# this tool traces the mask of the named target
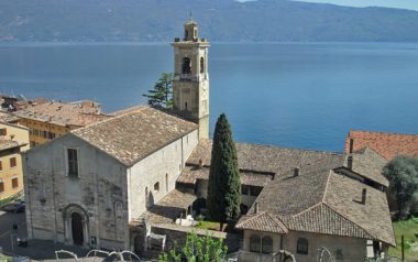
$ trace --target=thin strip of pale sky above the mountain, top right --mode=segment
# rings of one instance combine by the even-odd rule
[[[304,2],[324,2],[350,7],[387,7],[418,11],[418,0],[298,0]]]

